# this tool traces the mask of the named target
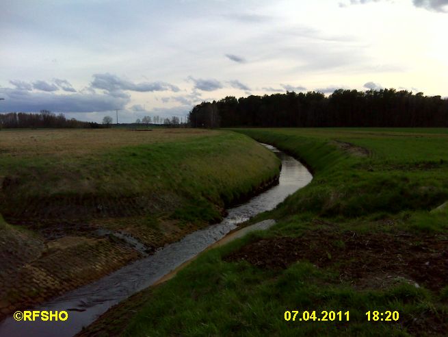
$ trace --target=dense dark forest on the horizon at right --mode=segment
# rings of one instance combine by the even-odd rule
[[[192,127],[448,127],[448,99],[408,90],[226,97],[189,112]]]

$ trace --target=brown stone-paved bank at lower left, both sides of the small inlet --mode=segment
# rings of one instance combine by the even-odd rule
[[[140,216],[93,219],[82,226],[55,225],[49,235],[0,219],[0,321],[16,310],[34,308],[142,257],[113,236],[95,236],[98,228],[128,233],[148,248],[147,253],[153,253],[200,227],[179,226],[169,219],[159,220],[153,227],[147,222],[147,217]]]

